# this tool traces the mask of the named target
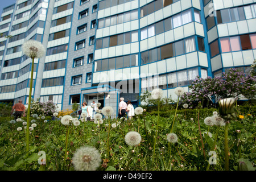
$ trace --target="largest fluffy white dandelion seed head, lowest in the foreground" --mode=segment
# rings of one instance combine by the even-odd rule
[[[80,147],[75,151],[72,164],[76,171],[95,171],[102,162],[100,152],[89,146]]]

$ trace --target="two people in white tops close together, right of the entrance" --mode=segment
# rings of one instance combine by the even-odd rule
[[[119,110],[118,110],[118,117],[122,118],[125,117],[125,114],[127,113],[127,117],[129,117],[129,119],[133,118],[134,116],[134,107],[131,104],[131,101],[124,101],[125,98],[121,97],[120,98],[120,102],[119,102]]]

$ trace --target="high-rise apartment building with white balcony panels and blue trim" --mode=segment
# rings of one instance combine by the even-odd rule
[[[17,0],[3,9],[0,101],[27,102],[31,60],[20,46],[47,48],[35,61],[33,97],[59,110],[101,102],[118,111],[159,87],[174,89],[196,76],[228,68],[249,73],[256,58],[256,0]]]

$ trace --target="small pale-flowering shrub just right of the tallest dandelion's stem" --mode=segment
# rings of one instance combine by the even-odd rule
[[[37,100],[37,101],[32,101],[31,103],[31,114],[51,116],[53,113],[56,112],[56,109],[57,109],[57,105],[53,104],[52,101],[39,102]]]

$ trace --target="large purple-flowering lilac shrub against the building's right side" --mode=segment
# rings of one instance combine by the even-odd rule
[[[189,108],[202,102],[203,106],[214,106],[221,98],[239,97],[241,94],[249,100],[255,97],[256,76],[246,76],[231,68],[221,77],[197,77],[189,86],[191,92],[181,96],[180,105],[188,104]]]

